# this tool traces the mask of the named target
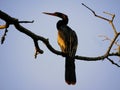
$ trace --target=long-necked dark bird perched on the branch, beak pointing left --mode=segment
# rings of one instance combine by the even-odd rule
[[[76,74],[75,74],[75,53],[77,50],[78,39],[76,33],[67,26],[68,24],[68,17],[67,15],[55,12],[55,13],[47,13],[44,14],[52,15],[60,17],[62,20],[57,22],[57,29],[58,29],[58,44],[67,56],[65,60],[65,81],[70,84],[76,83]]]

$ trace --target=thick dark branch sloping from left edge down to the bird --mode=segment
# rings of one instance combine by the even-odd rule
[[[15,19],[15,18],[7,15],[6,13],[4,13],[4,12],[2,12],[2,11],[0,11],[0,18],[1,18],[2,20],[4,20],[5,22],[9,23],[9,24],[13,24],[18,31],[20,31],[20,32],[28,35],[29,37],[31,37],[31,38],[33,39],[33,41],[34,41],[34,43],[35,43],[35,47],[36,47],[37,49],[39,49],[39,48],[38,48],[39,46],[38,46],[38,44],[37,44],[36,42],[37,42],[38,40],[41,40],[41,41],[47,46],[47,48],[48,48],[51,52],[53,52],[53,53],[55,53],[55,54],[57,54],[57,55],[65,56],[65,54],[63,54],[62,52],[55,50],[55,49],[50,45],[48,39],[46,39],[46,38],[44,38],[44,37],[42,37],[42,36],[38,36],[38,35],[36,35],[35,33],[31,32],[30,30],[28,30],[28,29],[24,28],[23,26],[21,26],[21,25],[19,24],[20,21],[18,21],[18,19]],[[41,50],[38,50],[38,51],[41,51]]]

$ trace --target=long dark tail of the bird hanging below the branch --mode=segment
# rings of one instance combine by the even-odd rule
[[[76,83],[75,60],[71,57],[66,57],[65,60],[65,81],[69,85]]]

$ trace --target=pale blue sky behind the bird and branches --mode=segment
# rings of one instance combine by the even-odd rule
[[[119,0],[1,0],[0,10],[19,20],[34,20],[22,24],[32,32],[49,38],[57,50],[57,17],[42,12],[62,12],[69,17],[69,26],[79,39],[77,54],[83,56],[103,55],[109,41],[102,41],[99,35],[113,37],[108,22],[96,18],[81,3],[91,7],[97,14],[108,11],[116,15],[114,24],[120,32]],[[0,20],[0,24],[4,21]],[[39,42],[44,54],[34,59],[34,43],[14,26],[8,28],[6,40],[0,45],[0,90],[120,90],[120,68],[108,60],[86,62],[76,60],[77,83],[69,86],[64,81],[64,58],[51,53]],[[0,31],[2,36],[4,31]],[[115,47],[114,47],[115,48]],[[113,48],[113,49],[114,49]],[[113,57],[114,61],[119,58]]]

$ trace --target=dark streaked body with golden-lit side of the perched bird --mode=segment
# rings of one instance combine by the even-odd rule
[[[64,53],[74,56],[78,44],[76,33],[68,26],[61,26],[58,30],[58,44]]]

